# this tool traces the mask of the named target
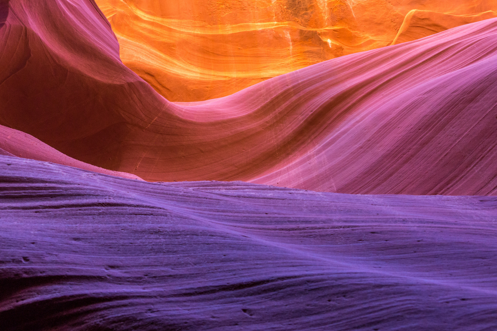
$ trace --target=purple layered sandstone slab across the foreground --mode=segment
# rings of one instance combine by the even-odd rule
[[[497,330],[497,197],[0,174],[2,331]]]

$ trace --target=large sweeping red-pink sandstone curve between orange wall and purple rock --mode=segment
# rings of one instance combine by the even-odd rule
[[[495,18],[171,103],[119,61],[94,2],[3,8],[0,124],[83,162],[148,181],[497,193]]]

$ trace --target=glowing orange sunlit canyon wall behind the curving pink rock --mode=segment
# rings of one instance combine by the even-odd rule
[[[226,96],[325,60],[495,17],[497,11],[494,0],[96,3],[112,24],[123,63],[170,101]]]

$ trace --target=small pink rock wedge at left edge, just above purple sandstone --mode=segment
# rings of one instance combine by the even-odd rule
[[[101,174],[118,176],[129,179],[139,179],[140,177],[126,172],[112,171],[87,164],[50,147],[46,143],[36,139],[27,133],[10,129],[0,125],[0,155],[17,156],[26,159],[54,162],[70,167],[76,167],[88,171],[99,172]]]

